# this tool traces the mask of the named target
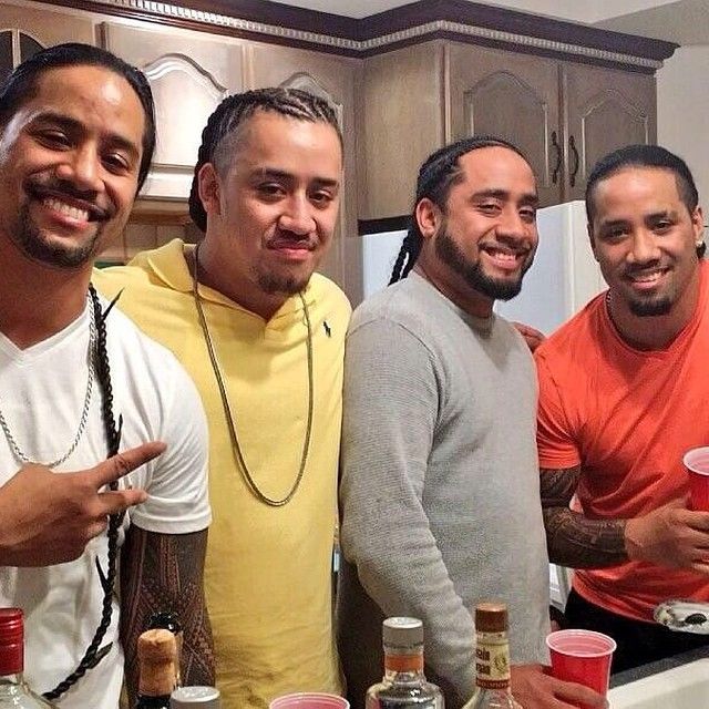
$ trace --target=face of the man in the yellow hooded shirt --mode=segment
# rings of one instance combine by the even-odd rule
[[[257,111],[220,150],[230,154],[199,174],[208,265],[223,292],[267,312],[307,286],[330,246],[340,141],[328,123]]]

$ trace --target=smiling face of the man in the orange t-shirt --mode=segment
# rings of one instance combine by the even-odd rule
[[[690,213],[670,169],[628,167],[593,193],[589,235],[614,301],[637,317],[669,314],[698,278],[702,215]]]

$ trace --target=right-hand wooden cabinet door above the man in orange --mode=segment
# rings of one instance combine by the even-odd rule
[[[564,199],[584,197],[593,166],[609,152],[657,138],[655,78],[613,69],[565,64]]]

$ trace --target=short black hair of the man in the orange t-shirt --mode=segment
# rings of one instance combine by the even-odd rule
[[[692,214],[699,204],[699,194],[695,185],[687,163],[681,157],[670,153],[660,145],[626,145],[613,153],[602,157],[590,171],[586,183],[586,216],[588,223],[593,224],[594,193],[596,185],[610,175],[615,175],[626,167],[656,167],[658,169],[669,169],[675,173],[677,181],[677,192],[685,206]]]

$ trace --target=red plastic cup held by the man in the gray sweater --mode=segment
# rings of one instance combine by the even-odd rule
[[[556,630],[546,637],[552,675],[606,696],[616,641],[594,630]],[[585,709],[584,705],[579,705]]]

